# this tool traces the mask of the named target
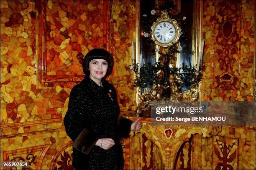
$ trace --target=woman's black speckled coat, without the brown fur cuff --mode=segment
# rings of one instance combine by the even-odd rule
[[[75,141],[84,129],[94,134],[88,139],[91,146],[85,146],[89,150],[87,154],[73,148],[72,165],[75,169],[120,170],[122,167],[123,154],[119,137],[128,137],[131,120],[122,117],[120,121],[113,85],[102,79],[102,86],[87,77],[70,92],[69,106],[64,117],[67,135]],[[95,146],[99,138],[112,138],[115,145],[104,150]]]

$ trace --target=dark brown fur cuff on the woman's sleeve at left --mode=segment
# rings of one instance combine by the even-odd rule
[[[95,133],[90,129],[85,128],[74,141],[74,148],[76,148],[77,150],[81,151],[84,154],[89,154],[90,150],[99,138],[99,134]]]

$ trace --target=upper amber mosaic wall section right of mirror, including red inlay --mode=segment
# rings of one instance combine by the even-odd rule
[[[253,100],[255,1],[203,1],[202,100]]]

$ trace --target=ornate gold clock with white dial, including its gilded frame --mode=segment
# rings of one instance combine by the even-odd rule
[[[171,19],[166,11],[162,12],[161,18],[157,18],[151,26],[151,31],[152,40],[162,47],[173,45],[182,34],[177,21]]]

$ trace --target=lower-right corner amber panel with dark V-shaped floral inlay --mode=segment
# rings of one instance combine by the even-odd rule
[[[202,139],[202,169],[255,169],[255,127],[227,127]]]

